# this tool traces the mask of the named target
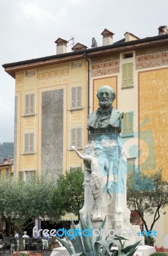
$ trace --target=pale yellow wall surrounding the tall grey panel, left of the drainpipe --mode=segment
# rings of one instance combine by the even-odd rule
[[[26,76],[24,72],[16,74],[15,95],[18,96],[17,109],[17,173],[24,170],[41,170],[41,99],[42,92],[49,90],[64,90],[64,145],[63,145],[63,172],[70,166],[80,166],[82,161],[70,150],[70,128],[83,127],[83,146],[88,140],[86,124],[88,118],[88,64],[81,61],[81,67],[72,67],[72,63],[54,65],[34,69],[35,75]],[[82,110],[71,110],[71,89],[82,86]],[[25,95],[34,93],[35,115],[24,116]],[[35,132],[35,154],[24,155],[24,132]],[[17,175],[18,177],[18,175]]]

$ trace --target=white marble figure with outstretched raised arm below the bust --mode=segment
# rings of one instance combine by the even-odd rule
[[[107,207],[111,202],[111,194],[108,193],[108,189],[111,189],[112,173],[109,175],[109,162],[102,157],[102,147],[95,145],[95,149],[91,156],[82,155],[80,152],[72,146],[77,156],[83,160],[88,160],[91,164],[91,179],[89,182],[89,188],[93,195],[93,221],[102,221],[107,214]],[[111,177],[111,180],[109,180]],[[84,209],[83,209],[84,210]],[[82,209],[80,210],[80,214]]]

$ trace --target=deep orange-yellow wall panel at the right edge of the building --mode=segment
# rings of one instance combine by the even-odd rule
[[[139,73],[139,140],[141,157],[140,168],[151,170],[149,163],[156,161],[156,168],[167,173],[167,134],[168,134],[168,68]],[[150,140],[149,140],[150,139]],[[153,146],[152,147],[152,143]],[[153,155],[150,161],[148,157]]]

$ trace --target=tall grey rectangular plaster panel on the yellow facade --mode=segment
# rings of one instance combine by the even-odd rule
[[[63,89],[42,92],[42,173],[63,173]]]

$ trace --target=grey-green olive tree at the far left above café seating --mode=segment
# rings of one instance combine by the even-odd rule
[[[12,178],[1,179],[0,216],[19,234],[19,248],[24,250],[22,234],[34,223],[34,218],[50,216],[49,198],[54,182],[47,176],[36,177],[24,182]]]

